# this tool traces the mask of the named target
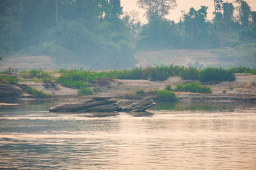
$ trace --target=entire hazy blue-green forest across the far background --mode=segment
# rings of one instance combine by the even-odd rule
[[[165,17],[175,0],[138,0],[138,12],[124,13],[120,0],[1,0],[0,56],[49,55],[59,64],[79,62],[92,69],[124,69],[141,50],[256,48],[256,11],[243,0],[212,0],[182,11],[179,22]],[[236,4],[236,8],[235,8]],[[256,59],[256,52],[252,53]]]

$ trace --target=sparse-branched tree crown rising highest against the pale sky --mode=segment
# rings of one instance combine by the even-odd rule
[[[177,4],[176,0],[138,0],[138,6],[147,10],[148,18],[163,18],[168,15],[169,11],[174,9]]]

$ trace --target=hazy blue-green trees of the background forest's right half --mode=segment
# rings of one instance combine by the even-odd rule
[[[151,1],[154,7],[154,2]],[[147,9],[148,24],[143,25],[138,36],[138,48],[159,49],[212,49],[234,47],[243,43],[256,42],[256,12],[250,6],[237,0],[237,11],[233,3],[215,1],[213,20],[207,20],[207,6],[190,8],[178,23],[167,20]],[[212,2],[213,4],[213,2]],[[237,15],[235,15],[237,13]]]

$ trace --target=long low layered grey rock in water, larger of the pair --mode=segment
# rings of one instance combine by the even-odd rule
[[[50,111],[116,111],[117,99],[111,97],[92,97],[81,103],[62,104],[49,108]]]

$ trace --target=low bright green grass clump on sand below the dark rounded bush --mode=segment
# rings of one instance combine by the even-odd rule
[[[209,94],[211,93],[211,88],[201,83],[191,82],[186,84],[178,84],[176,85],[175,91],[177,92],[193,92],[193,93],[204,93]]]

